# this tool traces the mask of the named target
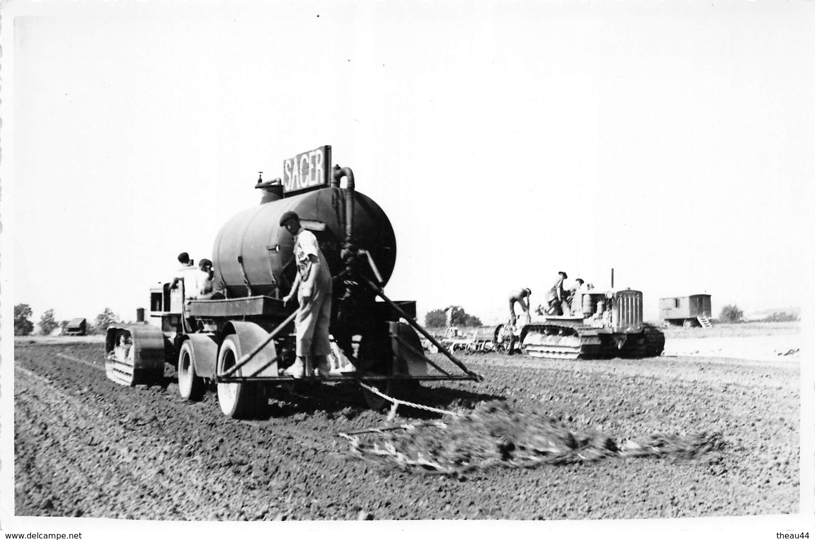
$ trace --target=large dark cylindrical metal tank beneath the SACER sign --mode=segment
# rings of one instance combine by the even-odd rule
[[[215,237],[214,288],[230,298],[249,296],[249,290],[252,295],[267,296],[289,291],[295,272],[294,239],[280,226],[280,216],[288,210],[296,212],[302,226],[315,234],[331,274],[338,274],[346,231],[345,191],[325,187],[260,204],[231,217]],[[354,200],[354,244],[371,254],[387,283],[396,262],[393,227],[370,197],[354,191]]]

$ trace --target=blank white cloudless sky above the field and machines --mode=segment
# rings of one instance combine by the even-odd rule
[[[35,322],[134,318],[258,171],[324,144],[390,217],[386,292],[420,313],[491,323],[558,270],[614,268],[646,318],[807,296],[815,2],[6,8],[3,264]]]

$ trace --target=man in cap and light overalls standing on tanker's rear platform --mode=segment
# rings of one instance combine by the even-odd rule
[[[294,237],[294,260],[297,275],[289,294],[284,297],[288,304],[294,295],[300,307],[294,319],[297,331],[297,360],[284,371],[299,379],[311,375],[315,362],[318,375],[328,375],[330,367],[328,354],[331,354],[331,341],[328,338],[328,325],[331,321],[331,274],[317,238],[300,224],[300,217],[294,212],[280,216],[280,226]]]

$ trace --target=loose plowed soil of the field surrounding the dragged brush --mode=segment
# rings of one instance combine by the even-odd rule
[[[482,383],[410,399],[467,412],[499,400],[613,441],[720,432],[716,459],[607,457],[451,477],[360,459],[338,432],[385,426],[354,384],[278,390],[227,419],[215,393],[105,378],[104,346],[15,346],[15,513],[142,520],[608,519],[797,513],[797,359],[541,361],[461,355]],[[399,406],[394,424],[440,415]],[[438,440],[445,434],[439,428]],[[372,444],[381,433],[359,435]],[[422,440],[433,437],[425,432]]]

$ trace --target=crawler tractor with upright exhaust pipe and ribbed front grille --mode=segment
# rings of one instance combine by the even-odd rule
[[[496,349],[520,350],[535,358],[582,360],[590,358],[649,358],[665,348],[665,335],[642,320],[642,292],[611,288],[577,291],[571,313],[539,314],[517,327],[498,325]]]

